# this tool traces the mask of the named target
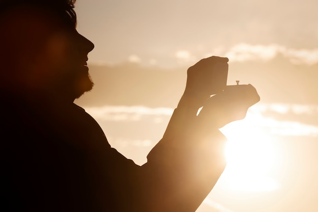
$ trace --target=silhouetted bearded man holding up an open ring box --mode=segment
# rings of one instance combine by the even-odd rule
[[[226,165],[217,129],[250,106],[237,105],[243,115],[234,117],[233,100],[216,98],[196,115],[209,70],[228,59],[188,69],[165,135],[138,166],[73,103],[93,86],[94,48],[76,31],[74,2],[0,0],[1,211],[195,211]]]

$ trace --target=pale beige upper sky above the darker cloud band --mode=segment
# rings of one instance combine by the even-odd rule
[[[78,0],[76,12],[79,32],[96,44],[91,63],[167,67],[213,54],[244,59],[235,55],[243,49],[317,62],[317,7],[315,0]]]

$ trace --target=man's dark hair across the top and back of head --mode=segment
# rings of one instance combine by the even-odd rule
[[[34,63],[35,55],[46,39],[33,36],[42,31],[37,24],[28,21],[40,18],[41,22],[41,15],[47,15],[43,17],[48,20],[56,18],[58,23],[63,24],[61,27],[75,29],[74,4],[75,0],[0,0],[0,90],[20,89],[17,84],[27,81],[25,76],[28,75],[29,64]],[[24,15],[27,15],[25,19]]]

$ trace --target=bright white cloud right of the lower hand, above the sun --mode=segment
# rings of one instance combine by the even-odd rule
[[[317,111],[317,105],[257,104],[248,110],[245,119],[231,123],[222,130],[229,135],[231,132],[241,135],[246,133],[244,129],[255,129],[273,135],[317,137],[318,125],[314,120]],[[304,122],[305,115],[312,119],[312,124]]]

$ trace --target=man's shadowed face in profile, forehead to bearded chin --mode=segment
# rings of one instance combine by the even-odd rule
[[[94,45],[80,35],[76,29],[62,30],[52,36],[47,50],[47,57],[55,75],[53,86],[60,92],[69,92],[72,99],[79,98],[93,87],[87,67],[88,52]],[[53,59],[52,59],[53,58]],[[48,67],[49,68],[49,67]]]

